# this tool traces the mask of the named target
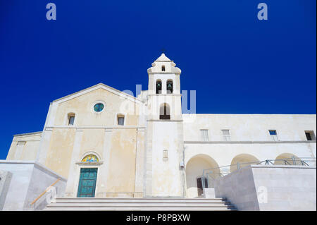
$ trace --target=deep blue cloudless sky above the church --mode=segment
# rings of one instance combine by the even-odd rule
[[[54,99],[147,90],[161,49],[197,113],[316,114],[316,0],[0,0],[0,159],[13,134],[43,129]]]

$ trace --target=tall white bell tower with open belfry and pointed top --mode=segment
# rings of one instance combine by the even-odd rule
[[[180,68],[161,54],[151,68],[147,95],[144,195],[185,196]]]

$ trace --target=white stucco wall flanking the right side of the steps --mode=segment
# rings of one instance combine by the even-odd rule
[[[251,165],[215,181],[239,210],[316,210],[316,166]]]

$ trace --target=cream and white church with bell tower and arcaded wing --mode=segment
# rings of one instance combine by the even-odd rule
[[[137,97],[99,83],[54,100],[42,131],[13,136],[0,171],[32,162],[57,174],[68,198],[201,198],[204,188],[218,190],[217,179],[264,161],[312,168],[316,183],[315,114],[184,114],[174,61],[161,54],[147,73]],[[26,192],[35,200],[44,190]],[[316,184],[309,191],[316,210]]]

